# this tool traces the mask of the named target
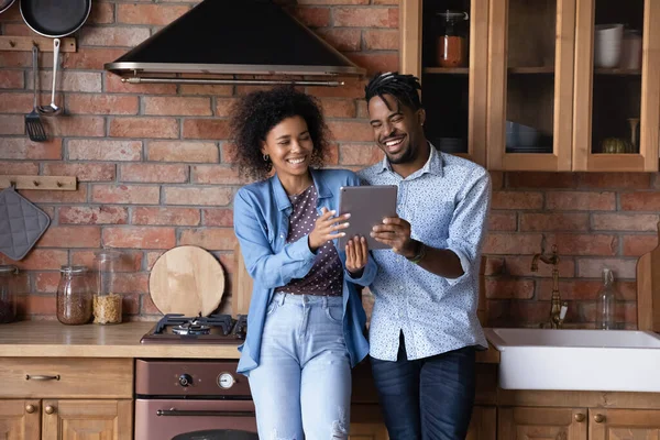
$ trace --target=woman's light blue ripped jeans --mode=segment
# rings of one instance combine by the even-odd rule
[[[348,439],[351,365],[342,297],[275,294],[249,375],[262,440]]]

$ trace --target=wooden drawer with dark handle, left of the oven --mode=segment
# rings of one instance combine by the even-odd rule
[[[132,398],[133,360],[0,358],[0,398]]]

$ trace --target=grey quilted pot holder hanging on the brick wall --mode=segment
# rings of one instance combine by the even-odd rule
[[[13,187],[0,191],[0,252],[21,260],[51,224],[48,216]]]

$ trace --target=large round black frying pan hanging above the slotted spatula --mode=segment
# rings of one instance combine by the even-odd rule
[[[31,30],[58,38],[73,34],[85,24],[91,0],[21,0],[20,9]]]

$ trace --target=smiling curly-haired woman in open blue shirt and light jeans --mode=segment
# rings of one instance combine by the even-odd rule
[[[290,86],[245,96],[231,128],[240,169],[258,180],[235,196],[234,230],[254,279],[239,372],[260,438],[345,439],[351,367],[369,351],[355,285],[369,285],[376,266],[364,238],[336,248],[350,217],[336,213],[339,188],[360,180],[319,169],[322,112]]]

